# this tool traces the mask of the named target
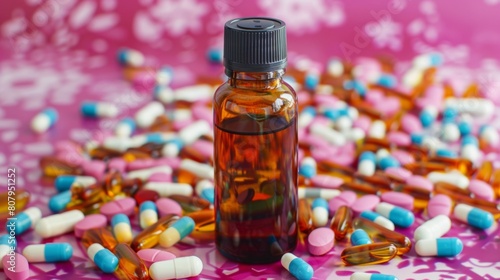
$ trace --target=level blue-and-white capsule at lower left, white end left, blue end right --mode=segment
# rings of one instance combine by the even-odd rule
[[[32,244],[24,248],[23,256],[29,263],[65,262],[73,256],[73,247],[68,243]]]

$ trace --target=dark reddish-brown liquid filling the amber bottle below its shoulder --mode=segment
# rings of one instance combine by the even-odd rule
[[[297,239],[297,127],[282,116],[240,115],[215,128],[217,247],[269,263]]]

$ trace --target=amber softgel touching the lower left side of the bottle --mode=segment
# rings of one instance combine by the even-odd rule
[[[215,240],[215,213],[205,209],[187,214],[195,222],[194,231],[189,235],[197,242],[212,242]]]

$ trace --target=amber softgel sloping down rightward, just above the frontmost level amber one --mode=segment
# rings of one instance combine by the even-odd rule
[[[398,249],[398,255],[403,255],[410,251],[411,241],[408,237],[386,229],[370,220],[364,218],[356,218],[352,225],[355,229],[363,229],[368,233],[374,242],[391,242]]]

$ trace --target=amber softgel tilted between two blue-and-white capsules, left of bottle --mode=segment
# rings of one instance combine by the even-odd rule
[[[145,228],[142,232],[136,235],[136,237],[134,237],[131,244],[132,249],[137,252],[142,249],[153,248],[156,244],[158,244],[160,234],[162,234],[165,229],[178,219],[179,216],[173,214],[165,215],[160,218],[158,222]]]

